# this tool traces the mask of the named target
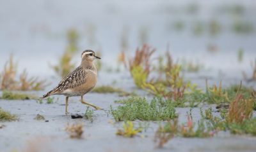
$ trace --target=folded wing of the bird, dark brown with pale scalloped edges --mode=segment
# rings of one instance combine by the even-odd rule
[[[41,97],[40,99],[48,97],[49,95],[52,95],[54,93],[62,92],[68,88],[74,88],[83,85],[84,83],[86,83],[87,74],[88,72],[86,72],[82,67],[77,67],[76,69],[74,69],[74,71],[68,73],[67,76],[65,76],[65,78],[63,78],[54,89],[43,95],[43,97]]]

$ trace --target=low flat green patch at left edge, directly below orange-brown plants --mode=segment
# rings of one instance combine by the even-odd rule
[[[4,100],[29,100],[35,99],[32,95],[22,94],[17,92],[7,92],[6,90],[3,91],[3,95],[0,99]]]

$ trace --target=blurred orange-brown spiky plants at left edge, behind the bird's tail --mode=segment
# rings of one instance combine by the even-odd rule
[[[0,76],[1,90],[44,90],[50,83],[45,84],[45,80],[38,81],[38,77],[28,79],[26,69],[19,76],[19,81],[15,81],[17,73],[17,63],[13,63],[12,55],[9,62],[4,65],[4,71]]]

